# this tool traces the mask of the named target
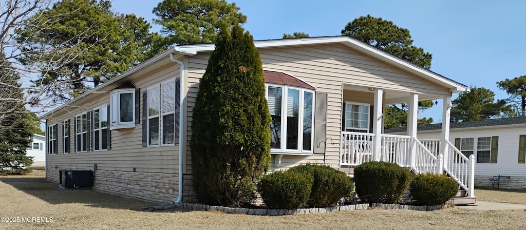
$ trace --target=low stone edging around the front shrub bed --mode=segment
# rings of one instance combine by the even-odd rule
[[[351,204],[341,205],[336,207],[314,207],[314,208],[298,208],[295,210],[287,209],[266,209],[266,208],[242,208],[242,207],[224,207],[214,206],[205,204],[175,204],[170,205],[170,209],[183,209],[183,210],[194,210],[194,211],[216,211],[230,214],[247,214],[247,215],[266,215],[266,216],[279,216],[279,215],[304,215],[309,213],[330,213],[339,211],[352,211],[352,210],[366,210],[369,207],[379,207],[385,210],[418,210],[418,211],[432,211],[442,208],[442,205],[433,206],[415,206],[415,205],[403,205],[403,204]]]

